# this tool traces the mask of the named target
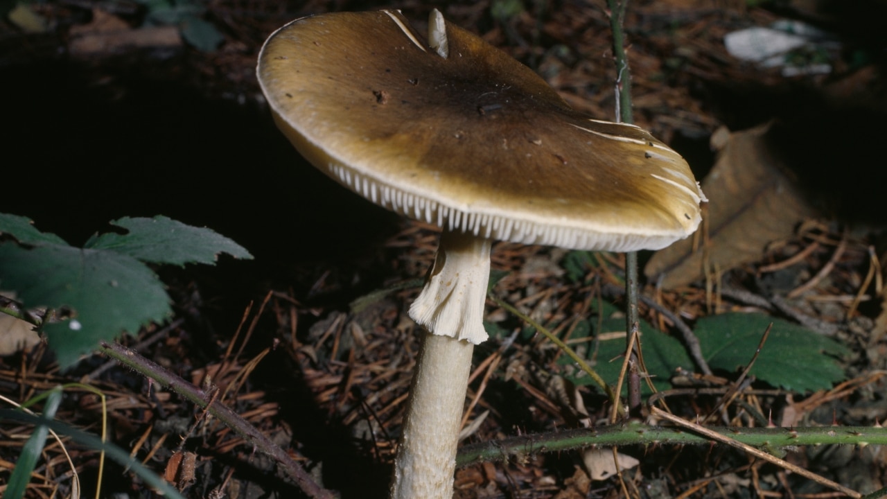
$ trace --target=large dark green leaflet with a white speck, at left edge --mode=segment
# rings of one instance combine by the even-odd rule
[[[75,317],[45,325],[59,364],[72,365],[103,339],[137,332],[172,313],[161,281],[136,258],[114,251],[0,244],[0,285],[27,307],[70,307]]]

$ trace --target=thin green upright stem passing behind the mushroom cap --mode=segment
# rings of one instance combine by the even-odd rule
[[[616,63],[616,122],[634,123],[632,116],[632,72],[628,67],[628,58],[625,56],[625,32],[623,24],[628,0],[608,0],[610,11],[610,31],[613,33],[613,60]],[[640,329],[638,315],[638,254],[630,251],[625,254],[625,297],[627,305],[625,310],[626,337],[632,337],[632,332]],[[639,343],[631,348],[628,376],[628,414],[640,416],[640,373],[638,361]]]

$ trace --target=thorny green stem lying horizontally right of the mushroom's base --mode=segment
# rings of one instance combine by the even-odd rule
[[[845,444],[864,446],[887,444],[887,428],[870,426],[820,426],[810,428],[707,427],[727,438],[774,451],[803,445]],[[458,466],[483,461],[501,461],[511,456],[535,455],[591,446],[622,445],[710,445],[711,440],[676,427],[653,426],[632,420],[595,428],[522,435],[504,440],[479,442],[459,448]]]

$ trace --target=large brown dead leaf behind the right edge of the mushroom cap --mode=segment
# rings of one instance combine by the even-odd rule
[[[754,262],[768,244],[788,238],[799,222],[815,215],[767,146],[769,128],[768,123],[726,137],[703,180],[710,200],[703,227],[693,238],[656,252],[644,269],[649,278],[663,275],[663,288],[671,289],[703,277],[706,268],[723,272]]]

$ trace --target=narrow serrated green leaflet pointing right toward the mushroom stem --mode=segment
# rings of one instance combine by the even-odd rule
[[[86,242],[85,248],[110,249],[155,264],[212,265],[216,263],[219,253],[227,253],[235,258],[252,258],[246,249],[224,235],[163,216],[121,218],[112,221],[111,225],[129,232],[93,236]]]

